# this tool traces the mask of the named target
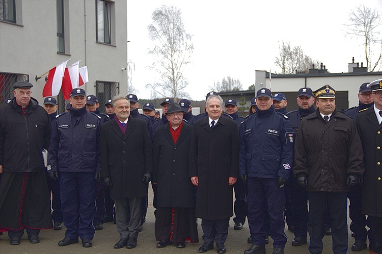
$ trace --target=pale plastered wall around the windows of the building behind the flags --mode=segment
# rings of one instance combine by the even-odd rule
[[[127,3],[116,0],[115,45],[96,42],[96,1],[66,0],[69,7],[70,51],[57,53],[57,17],[54,0],[16,0],[22,4],[22,24],[0,21],[0,72],[28,74],[34,85],[32,96],[42,102],[45,79],[35,80],[49,69],[71,58],[88,66],[87,94],[96,93],[96,81],[120,83],[127,91]],[[16,16],[17,18],[17,16]],[[68,36],[68,35],[66,35]]]

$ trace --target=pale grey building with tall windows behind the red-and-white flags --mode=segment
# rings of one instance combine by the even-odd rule
[[[127,3],[124,0],[0,0],[0,105],[13,97],[13,84],[27,80],[42,104],[45,77],[71,59],[87,66],[81,86],[104,102],[127,92]],[[59,111],[65,102],[57,96]]]

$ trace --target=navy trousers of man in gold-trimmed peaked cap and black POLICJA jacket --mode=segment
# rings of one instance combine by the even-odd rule
[[[309,219],[308,232],[310,236],[310,252],[321,253],[323,244],[324,215],[326,206],[332,219],[333,253],[345,254],[347,252],[347,193],[308,191]]]

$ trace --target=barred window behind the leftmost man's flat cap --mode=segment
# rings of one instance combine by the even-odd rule
[[[13,98],[13,84],[18,81],[29,81],[29,75],[0,72],[0,106],[7,99]]]

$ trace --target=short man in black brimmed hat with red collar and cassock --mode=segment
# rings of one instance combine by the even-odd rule
[[[183,109],[170,103],[169,124],[155,131],[153,183],[157,187],[156,247],[175,243],[184,248],[189,238],[199,242],[195,217],[194,185],[188,178],[188,150],[193,127],[182,121]]]

